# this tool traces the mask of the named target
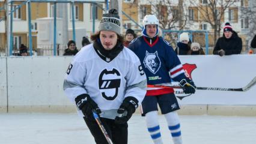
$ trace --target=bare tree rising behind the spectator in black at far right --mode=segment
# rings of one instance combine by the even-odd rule
[[[204,2],[204,4],[202,3]],[[214,41],[221,34],[222,23],[224,22],[225,11],[234,4],[234,0],[190,0],[190,5],[194,5],[200,13],[200,21],[209,23],[214,30]]]

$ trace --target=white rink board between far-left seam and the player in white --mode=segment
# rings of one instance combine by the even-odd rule
[[[72,57],[13,57],[8,63],[9,111],[73,107],[62,90]],[[34,111],[34,110],[32,110]]]

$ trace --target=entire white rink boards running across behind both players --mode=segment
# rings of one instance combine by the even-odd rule
[[[180,59],[189,65],[187,72],[197,86],[241,88],[256,76],[256,55]],[[0,112],[75,112],[62,91],[70,61],[69,56],[0,58]],[[256,116],[256,86],[247,92],[197,91],[189,96],[176,92],[184,97],[180,114]]]

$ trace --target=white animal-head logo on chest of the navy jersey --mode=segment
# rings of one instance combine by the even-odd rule
[[[149,53],[146,51],[146,56],[144,58],[143,64],[145,65],[151,73],[156,74],[161,66],[160,58],[158,57],[157,52]]]

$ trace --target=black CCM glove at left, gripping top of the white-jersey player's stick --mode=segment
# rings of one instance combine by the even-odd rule
[[[88,94],[81,94],[78,95],[78,97],[75,98],[76,106],[80,110],[82,110],[82,113],[84,114],[85,118],[90,119],[91,121],[94,121],[93,118],[93,110],[97,114],[102,113],[98,105],[91,99],[90,95]]]

